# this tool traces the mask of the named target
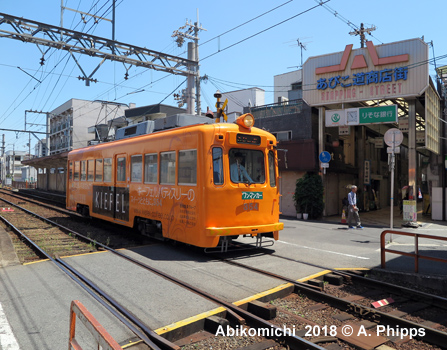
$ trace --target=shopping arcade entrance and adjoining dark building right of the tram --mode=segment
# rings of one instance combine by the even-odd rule
[[[384,208],[391,198],[401,204],[405,189],[412,205],[424,202],[427,214],[445,220],[443,81],[429,75],[428,45],[421,39],[368,41],[365,48],[341,50],[275,77],[277,102],[250,109],[256,126],[280,141],[281,212],[295,215],[296,180],[319,172],[326,216],[340,215],[342,199],[357,185],[361,210]],[[390,129],[401,133],[399,147],[386,144]],[[318,157],[324,151],[331,156],[326,165]]]

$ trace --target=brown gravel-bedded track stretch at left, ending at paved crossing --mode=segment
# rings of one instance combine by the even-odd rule
[[[97,243],[113,248],[154,243],[153,240],[130,229],[123,230],[122,227],[110,223],[86,219],[77,213],[16,193],[6,191],[0,193],[2,195],[0,214],[18,229],[29,232],[32,239],[43,241],[49,246],[48,251],[53,255],[68,256],[95,252],[99,247]],[[15,236],[12,236],[12,239],[22,263],[42,258],[20,239]]]

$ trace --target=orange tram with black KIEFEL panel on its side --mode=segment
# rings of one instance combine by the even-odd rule
[[[284,226],[276,139],[253,124],[244,114],[73,150],[67,208],[197,247],[227,251],[240,235],[272,245],[263,238]]]

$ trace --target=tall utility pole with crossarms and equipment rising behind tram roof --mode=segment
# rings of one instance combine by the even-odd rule
[[[193,42],[188,43],[188,59],[191,61],[196,62],[195,67],[191,67],[193,70],[195,69],[195,74],[192,76],[192,79],[188,79],[188,87],[186,92],[186,98],[187,101],[192,102],[194,99],[194,81],[195,78],[195,100],[196,100],[196,112],[198,115],[201,114],[202,106],[200,104],[200,71],[199,71],[199,31],[200,30],[206,30],[202,28],[199,24],[199,10],[197,10],[197,22],[186,21],[186,24],[179,29],[175,30],[174,33],[172,33],[172,37],[176,38],[175,41],[177,42],[178,47],[182,47],[183,43],[186,39],[190,39]],[[191,45],[190,45],[191,44]],[[195,114],[194,109],[192,107],[192,103],[187,103],[188,105],[188,113],[189,114]],[[190,107],[191,105],[191,107]]]

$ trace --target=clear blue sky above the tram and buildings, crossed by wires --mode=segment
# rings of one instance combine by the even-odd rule
[[[102,15],[111,1],[64,0],[64,4]],[[91,9],[93,4],[97,5]],[[177,47],[171,35],[186,20],[195,22],[199,11],[199,23],[206,29],[199,34],[203,43],[199,48],[200,73],[210,77],[201,85],[203,111],[214,105],[217,89],[228,92],[259,87],[266,91],[265,103],[273,103],[273,76],[301,65],[297,40],[306,47],[304,61],[311,56],[343,51],[347,44],[360,47],[359,37],[349,34],[353,28],[346,22],[357,27],[361,22],[365,27],[376,26],[373,35],[367,35],[375,45],[424,36],[426,42],[433,42],[430,58],[447,54],[443,30],[445,0],[427,0],[423,4],[415,0],[331,0],[325,7],[318,6],[315,0],[116,0],[116,4],[116,40],[182,57],[186,57],[186,45]],[[60,0],[3,0],[0,12],[59,26],[60,6]],[[312,7],[316,8],[310,10]],[[111,14],[107,17],[111,18]],[[71,11],[64,12],[63,21],[64,27],[111,38],[109,22],[84,25],[80,15]],[[250,22],[226,33],[247,21]],[[2,25],[0,29],[10,27]],[[144,68],[130,68],[129,79],[124,80],[123,65],[106,62],[93,76],[98,82],[87,87],[78,80],[82,73],[66,51],[51,49],[41,66],[42,54],[36,45],[0,38],[0,53],[0,128],[6,129],[22,130],[25,110],[51,111],[70,98],[136,103],[137,107],[161,101],[176,105],[170,94],[178,92],[176,87],[185,80],[183,76]],[[88,75],[99,63],[87,56],[78,55],[77,59]],[[436,64],[447,65],[447,59],[437,60]],[[434,65],[430,74],[434,74]],[[181,86],[185,87],[186,84]],[[27,122],[43,124],[44,116],[28,114]],[[39,126],[27,129],[43,131]],[[6,150],[11,150],[13,144],[16,150],[28,150],[28,134],[0,131],[3,133]],[[31,145],[35,142],[32,137]]]

